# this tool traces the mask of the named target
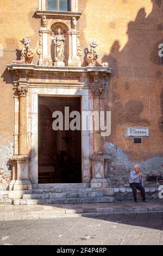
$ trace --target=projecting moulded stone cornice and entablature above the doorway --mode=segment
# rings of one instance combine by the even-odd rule
[[[103,66],[86,67],[56,67],[39,66],[34,64],[10,64],[8,71],[15,75],[15,81],[26,84],[27,87],[59,87],[89,89],[98,77],[101,84],[106,85],[105,76],[111,74],[112,69]],[[16,83],[17,83],[16,82]],[[97,87],[95,86],[92,88]],[[99,87],[101,89],[101,87]],[[101,95],[102,96],[102,95]]]

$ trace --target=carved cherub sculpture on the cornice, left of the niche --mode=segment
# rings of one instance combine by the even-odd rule
[[[20,60],[14,60],[12,63],[30,64],[30,63],[32,63],[33,56],[34,56],[34,53],[30,49],[30,46],[29,46],[30,39],[23,38],[23,40],[21,42],[24,45],[24,48],[21,51],[21,58],[20,58]]]

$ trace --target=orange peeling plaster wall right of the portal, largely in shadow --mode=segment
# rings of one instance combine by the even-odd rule
[[[97,41],[100,58],[113,68],[105,105],[111,111],[106,144],[114,185],[128,183],[138,163],[145,174],[163,172],[162,8],[162,0],[79,1],[82,48]],[[127,127],[148,127],[150,135],[134,144]]]

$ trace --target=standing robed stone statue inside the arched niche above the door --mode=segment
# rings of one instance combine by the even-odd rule
[[[64,50],[65,50],[65,38],[61,34],[61,29],[57,29],[57,35],[54,36],[54,47],[55,47],[55,57],[54,62],[64,61]]]

